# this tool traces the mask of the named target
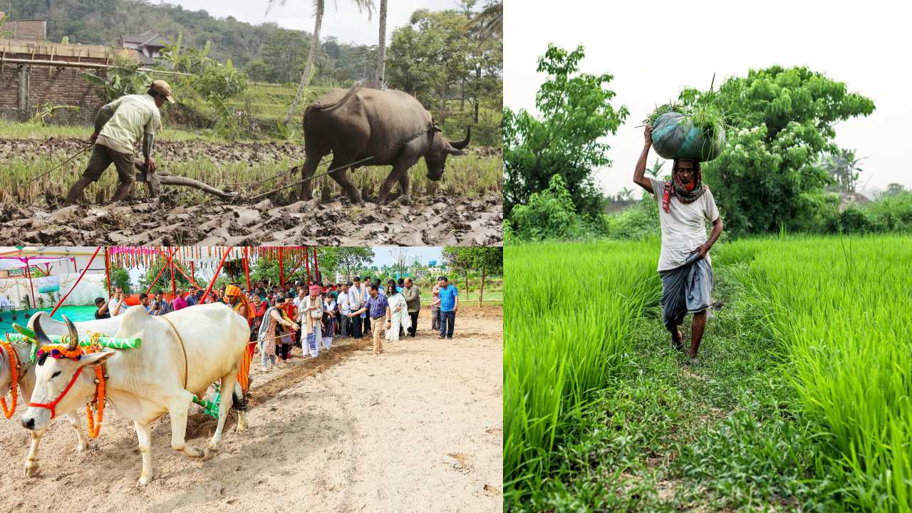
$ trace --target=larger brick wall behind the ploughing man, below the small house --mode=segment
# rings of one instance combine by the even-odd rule
[[[102,105],[96,94],[100,88],[79,77],[81,71],[85,69],[6,64],[0,71],[0,117],[27,120],[50,102],[54,105],[75,105],[79,110],[57,110],[48,121],[60,124],[91,123]],[[98,69],[88,71],[101,74]],[[20,87],[24,80],[27,84],[26,91]],[[23,92],[26,92],[25,98],[21,96]],[[25,109],[22,108],[23,99]]]

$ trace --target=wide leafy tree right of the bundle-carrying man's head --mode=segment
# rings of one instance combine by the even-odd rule
[[[806,225],[831,183],[819,156],[838,152],[835,123],[875,109],[845,83],[804,67],[751,69],[718,91],[684,89],[680,99],[710,102],[731,124],[726,150],[703,165],[703,176],[734,233]]]

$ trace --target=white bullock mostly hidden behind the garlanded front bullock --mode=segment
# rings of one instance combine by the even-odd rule
[[[59,320],[51,319],[50,315],[45,311],[36,312],[28,319],[29,329],[35,329],[36,319],[41,319],[41,326],[47,334],[67,334],[67,325]],[[98,332],[111,336],[117,332],[118,326],[119,320],[115,319],[87,320],[76,323],[76,329],[80,335],[89,335],[90,333]],[[35,389],[35,364],[28,362],[31,346],[24,344],[10,345],[14,351],[16,351],[18,385],[19,390],[22,392],[22,399],[24,400],[23,405],[25,405],[25,403],[28,403],[29,398],[32,396],[32,391]],[[0,396],[5,396],[6,393],[9,392],[11,378],[12,373],[10,372],[9,355],[6,354],[5,350],[0,349]],[[74,409],[67,412],[61,411],[60,413],[66,415],[69,424],[76,430],[79,440],[78,445],[76,446],[77,452],[86,450],[86,447],[88,447],[88,437],[82,431],[82,424],[79,421],[76,410]],[[38,443],[40,441],[40,434],[32,432],[32,445],[28,449],[28,455],[26,455],[26,476],[36,476],[38,473],[37,455]]]

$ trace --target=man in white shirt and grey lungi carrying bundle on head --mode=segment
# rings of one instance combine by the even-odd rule
[[[639,155],[633,181],[655,196],[662,229],[658,274],[662,279],[662,317],[678,350],[684,340],[678,329],[684,315],[693,314],[690,326],[691,359],[696,359],[710,308],[712,267],[710,248],[722,233],[722,219],[709,187],[702,183],[700,162],[674,159],[671,181],[646,178],[646,160],[652,146],[652,127],[647,126],[646,143]],[[712,233],[706,236],[706,222]]]

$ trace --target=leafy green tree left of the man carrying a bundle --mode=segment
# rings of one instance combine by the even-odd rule
[[[554,174],[561,176],[576,212],[601,215],[602,194],[592,171],[611,163],[610,146],[603,140],[617,132],[629,112],[611,105],[615,92],[607,84],[614,77],[579,72],[584,56],[583,47],[567,52],[549,45],[538,59],[537,70],[548,75],[535,97],[541,116],[503,110],[503,209],[508,217],[516,205],[548,188]]]

